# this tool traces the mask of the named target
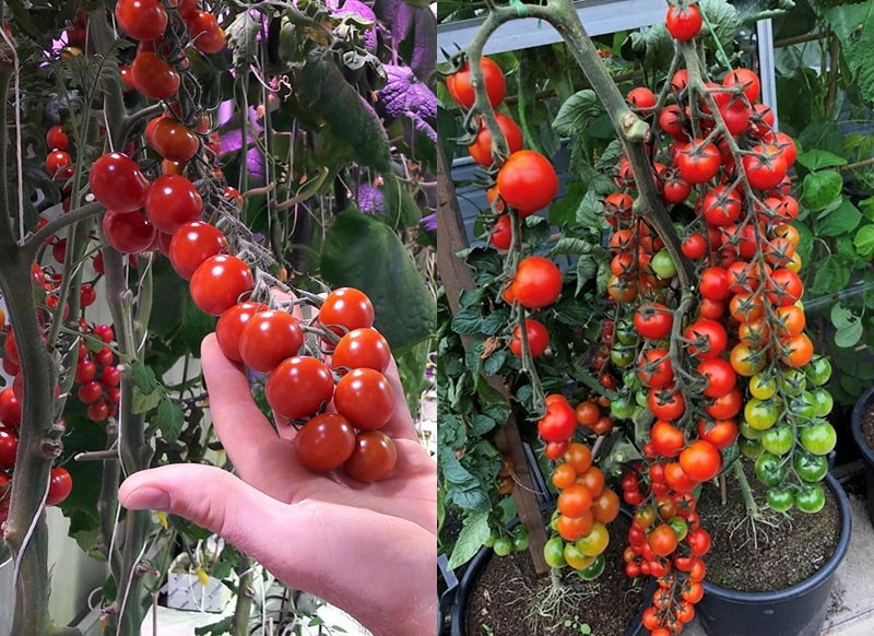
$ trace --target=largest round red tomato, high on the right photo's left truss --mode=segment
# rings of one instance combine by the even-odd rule
[[[558,192],[558,175],[542,154],[520,150],[500,166],[497,186],[504,202],[525,217],[552,202]]]

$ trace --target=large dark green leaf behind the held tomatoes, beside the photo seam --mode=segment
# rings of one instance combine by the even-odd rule
[[[356,210],[339,214],[324,238],[321,272],[330,285],[369,296],[375,327],[399,353],[434,333],[434,296],[401,239],[376,219]]]

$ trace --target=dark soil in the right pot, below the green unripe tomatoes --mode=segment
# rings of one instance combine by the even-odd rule
[[[766,488],[752,470],[747,480],[757,502]],[[743,496],[733,473],[728,475],[728,503],[719,488],[707,484],[698,511],[710,531],[712,546],[705,557],[707,580],[741,591],[773,591],[811,577],[834,554],[840,537],[840,509],[831,490],[823,485],[826,505],[816,515],[793,509],[779,515],[768,508],[754,527],[746,519]]]

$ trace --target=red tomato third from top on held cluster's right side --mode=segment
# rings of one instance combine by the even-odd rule
[[[334,407],[355,428],[373,431],[388,424],[394,414],[394,392],[381,373],[356,368],[336,382]]]

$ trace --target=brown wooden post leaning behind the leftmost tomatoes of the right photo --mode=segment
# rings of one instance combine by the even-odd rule
[[[442,148],[437,145],[439,169],[437,176],[437,272],[446,290],[446,297],[452,314],[460,309],[459,298],[464,290],[473,290],[473,276],[470,268],[456,254],[468,247],[461,212],[456,198],[456,188],[452,184],[451,166],[447,162]],[[471,335],[462,335],[464,349],[470,349],[474,342]],[[486,381],[507,400],[510,405],[512,397],[498,376],[486,376]],[[506,424],[495,435],[495,446],[501,452],[509,452],[516,461],[516,479],[518,486],[513,488],[512,496],[519,519],[528,528],[531,544],[529,552],[534,570],[540,574],[550,572],[550,566],[543,560],[543,546],[546,543],[546,528],[543,523],[540,506],[538,505],[531,474],[528,470],[522,437],[519,425],[510,410]]]

